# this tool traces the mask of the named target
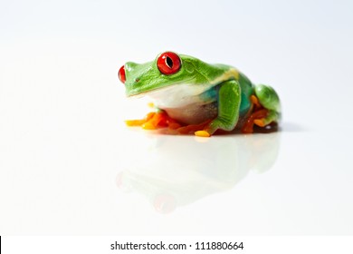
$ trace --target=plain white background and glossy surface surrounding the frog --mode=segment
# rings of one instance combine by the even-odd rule
[[[0,234],[352,235],[351,1],[1,1]],[[281,96],[281,132],[131,130],[166,50]]]

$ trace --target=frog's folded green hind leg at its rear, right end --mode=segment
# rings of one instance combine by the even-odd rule
[[[279,122],[281,118],[281,103],[278,94],[274,91],[271,86],[259,84],[254,88],[256,97],[259,103],[268,112],[266,116],[253,120],[253,123],[264,127],[271,122]]]

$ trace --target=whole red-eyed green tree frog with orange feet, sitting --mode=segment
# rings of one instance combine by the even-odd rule
[[[122,65],[118,77],[127,97],[148,96],[155,109],[143,119],[126,121],[128,126],[210,137],[271,129],[281,119],[280,98],[272,86],[253,84],[231,65],[167,51],[145,64]]]

